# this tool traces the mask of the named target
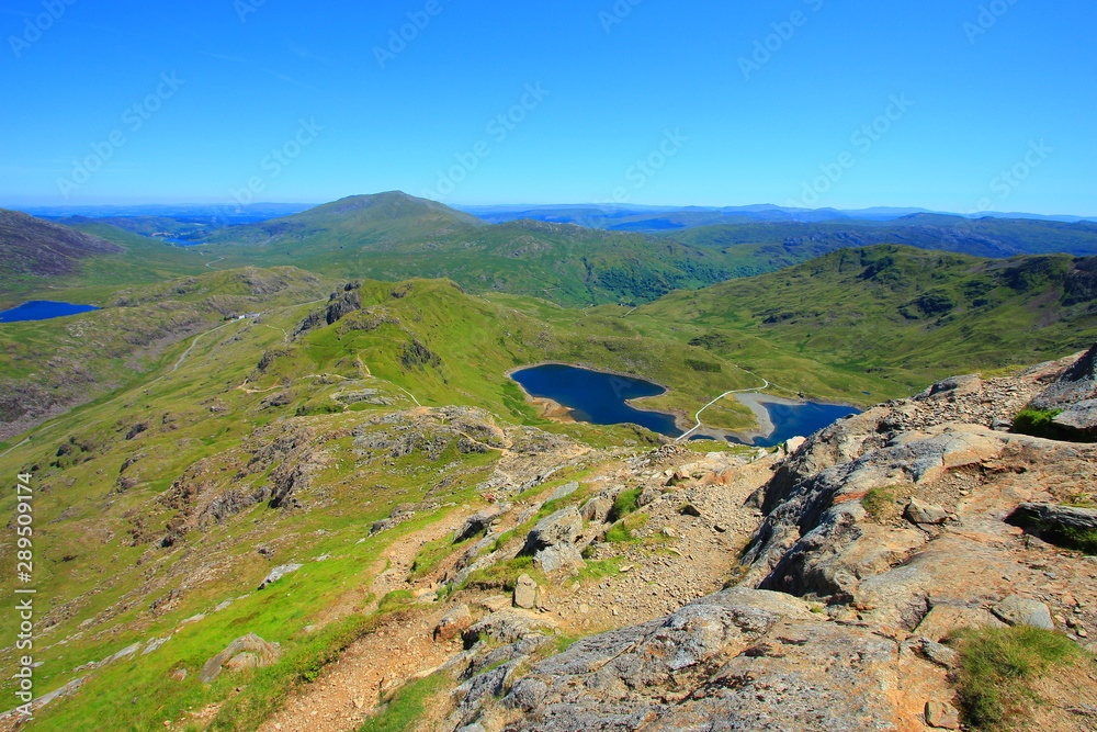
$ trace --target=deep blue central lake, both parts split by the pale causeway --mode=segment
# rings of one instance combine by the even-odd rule
[[[625,399],[657,396],[666,391],[649,381],[556,363],[516,371],[511,374],[511,379],[521,384],[530,395],[550,398],[564,405],[572,410],[572,416],[578,421],[592,425],[633,423],[667,437],[678,437],[682,433],[675,426],[671,415],[644,412],[625,404]],[[776,428],[772,435],[748,441],[726,433],[725,439],[728,442],[769,448],[791,437],[806,437],[824,427],[829,427],[842,417],[859,414],[858,409],[852,407],[813,402],[764,405]],[[690,439],[704,438],[695,436]]]

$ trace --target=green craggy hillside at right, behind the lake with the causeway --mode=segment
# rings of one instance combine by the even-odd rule
[[[883,245],[674,293],[630,319],[648,335],[688,323],[680,338],[730,357],[750,337],[850,371],[930,379],[1090,346],[1095,296],[1095,258],[987,260]]]

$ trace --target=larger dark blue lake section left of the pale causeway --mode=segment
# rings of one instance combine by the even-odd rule
[[[658,396],[666,392],[649,381],[557,363],[522,369],[510,378],[531,396],[563,404],[578,421],[591,425],[632,423],[667,437],[681,435],[681,430],[675,427],[674,416],[644,412],[625,404],[625,399]]]

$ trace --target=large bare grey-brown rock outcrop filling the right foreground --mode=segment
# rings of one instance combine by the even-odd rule
[[[950,379],[817,432],[749,499],[762,516],[736,586],[524,673],[518,644],[532,635],[504,633],[501,665],[468,672],[440,729],[960,729],[960,658],[942,640],[1058,624],[1085,642],[1094,621],[1094,565],[1006,520],[1089,527],[1097,515],[1061,505],[1093,497],[1097,446],[1000,431],[1072,365]],[[576,518],[545,519],[533,549],[573,544]]]

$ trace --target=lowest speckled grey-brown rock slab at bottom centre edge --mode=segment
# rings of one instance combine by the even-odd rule
[[[802,600],[733,588],[576,642],[514,680],[501,706],[513,732],[914,729],[901,710],[924,692],[906,683],[923,666]],[[463,707],[460,721],[477,721],[477,705]]]

